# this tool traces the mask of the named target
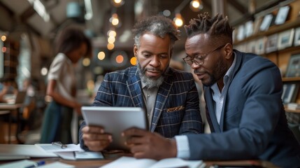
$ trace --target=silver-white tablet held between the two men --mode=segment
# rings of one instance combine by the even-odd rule
[[[105,132],[112,134],[109,150],[129,149],[121,136],[124,130],[130,127],[148,129],[145,112],[140,107],[83,106],[81,111],[87,125],[102,126]]]

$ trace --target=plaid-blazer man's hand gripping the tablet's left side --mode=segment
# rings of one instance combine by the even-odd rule
[[[112,141],[110,134],[105,133],[103,127],[85,126],[81,130],[83,132],[83,141],[90,151],[102,151]]]

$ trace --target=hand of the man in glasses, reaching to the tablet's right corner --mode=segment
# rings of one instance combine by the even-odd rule
[[[165,139],[157,133],[148,132],[138,128],[130,128],[122,133],[128,137],[126,145],[129,146],[134,158],[151,158],[161,160],[174,158],[177,155],[177,146],[174,139]]]

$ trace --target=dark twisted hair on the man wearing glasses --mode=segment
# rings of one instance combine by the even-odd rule
[[[187,37],[191,37],[197,34],[208,34],[213,40],[220,38],[226,39],[227,42],[232,43],[232,28],[229,25],[227,16],[215,15],[210,18],[208,13],[201,13],[198,18],[190,20],[190,25],[185,25],[185,31]]]

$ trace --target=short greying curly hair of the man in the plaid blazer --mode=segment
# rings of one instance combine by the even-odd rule
[[[179,39],[179,31],[176,25],[172,20],[162,15],[154,15],[148,18],[143,18],[143,20],[136,22],[132,32],[134,34],[134,43],[136,43],[138,47],[140,45],[141,36],[146,32],[150,32],[151,34],[161,38],[164,38],[164,36],[168,34],[171,38],[172,44]]]

